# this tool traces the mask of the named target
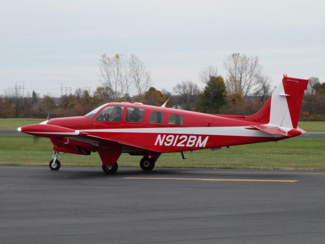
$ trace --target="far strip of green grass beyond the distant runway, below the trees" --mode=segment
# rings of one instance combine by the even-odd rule
[[[45,118],[0,118],[0,130],[16,130],[20,126],[39,124]],[[298,126],[307,132],[325,132],[325,121],[302,121]]]

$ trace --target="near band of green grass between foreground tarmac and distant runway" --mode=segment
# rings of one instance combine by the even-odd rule
[[[193,157],[185,152],[188,159],[182,160],[180,153],[163,154],[156,167],[171,168],[240,168],[240,169],[311,169],[325,170],[325,139],[292,138],[278,142],[233,146],[226,149],[194,151]],[[31,136],[0,136],[0,165],[48,165],[52,159],[52,144],[41,138],[34,143]],[[139,156],[122,154],[120,167],[139,167]],[[63,155],[64,166],[101,166],[97,153],[90,156]]]

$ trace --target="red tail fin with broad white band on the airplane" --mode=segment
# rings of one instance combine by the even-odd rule
[[[308,80],[283,75],[272,96],[257,113],[245,120],[261,122],[272,126],[297,129],[304,91]]]

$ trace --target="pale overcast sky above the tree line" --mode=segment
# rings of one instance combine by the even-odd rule
[[[325,1],[15,1],[0,8],[0,94],[25,86],[60,95],[94,90],[103,53],[136,54],[153,86],[225,75],[231,53],[258,56],[274,85],[283,73],[325,82]],[[200,84],[202,87],[202,84]]]

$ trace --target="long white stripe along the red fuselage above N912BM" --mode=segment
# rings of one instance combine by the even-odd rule
[[[247,126],[245,126],[247,127]],[[132,129],[92,129],[79,130],[82,132],[101,133],[155,133],[155,134],[187,134],[187,135],[212,135],[212,136],[248,136],[248,137],[275,137],[258,130],[248,130],[239,127],[159,127],[159,128],[132,128]],[[284,129],[280,127],[280,129]],[[288,128],[285,128],[287,131]]]

